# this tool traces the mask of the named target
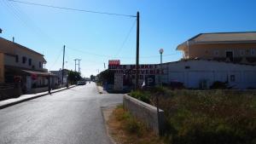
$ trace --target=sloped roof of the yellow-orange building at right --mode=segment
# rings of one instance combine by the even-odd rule
[[[182,49],[187,43],[256,43],[256,32],[200,33],[178,45],[177,49]]]

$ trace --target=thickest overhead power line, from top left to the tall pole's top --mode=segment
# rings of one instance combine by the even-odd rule
[[[24,3],[24,4],[36,5],[40,7],[52,8],[52,9],[65,9],[65,10],[72,10],[72,11],[79,11],[79,12],[93,13],[93,14],[108,14],[108,15],[115,15],[115,16],[137,17],[135,15],[129,15],[129,14],[108,13],[108,12],[100,12],[100,11],[86,10],[86,9],[73,9],[73,8],[60,7],[60,6],[48,5],[48,4],[42,4],[42,3],[30,3],[30,2],[23,2],[23,1],[16,1],[16,0],[9,0],[9,2]]]

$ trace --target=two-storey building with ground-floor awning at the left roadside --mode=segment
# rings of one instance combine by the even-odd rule
[[[24,93],[55,85],[55,75],[45,69],[44,55],[0,37],[0,83],[19,84]]]

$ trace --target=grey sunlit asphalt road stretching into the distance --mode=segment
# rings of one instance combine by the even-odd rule
[[[1,144],[109,144],[101,107],[122,95],[100,95],[90,83],[0,110]]]

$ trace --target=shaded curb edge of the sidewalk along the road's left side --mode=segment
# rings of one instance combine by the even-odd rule
[[[74,88],[74,87],[75,87],[75,85],[68,87],[68,89],[71,89],[71,88]],[[67,89],[67,88],[66,88],[66,89]],[[60,91],[66,90],[66,89],[56,90],[56,91],[52,92],[51,94],[54,94],[54,93],[56,93],[56,92],[60,92]],[[3,108],[6,108],[6,107],[14,106],[14,105],[19,104],[19,103],[24,102],[24,101],[31,101],[31,100],[33,100],[33,99],[37,99],[38,97],[42,97],[42,96],[45,96],[45,95],[49,95],[49,94],[47,93],[47,94],[42,94],[42,95],[36,95],[36,96],[29,97],[29,98],[26,98],[26,99],[23,99],[23,100],[20,100],[20,101],[10,102],[10,103],[8,103],[8,104],[5,104],[5,105],[0,106],[0,110],[3,109]]]

